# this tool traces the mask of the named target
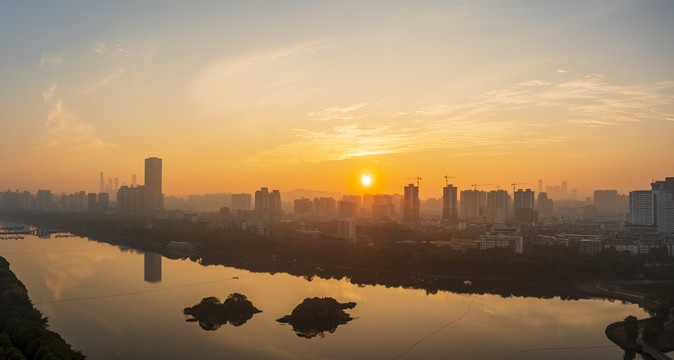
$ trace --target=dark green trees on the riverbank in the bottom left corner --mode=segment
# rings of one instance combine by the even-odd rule
[[[84,359],[33,307],[26,288],[0,257],[0,359]]]

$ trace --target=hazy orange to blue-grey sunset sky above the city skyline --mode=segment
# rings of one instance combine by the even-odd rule
[[[0,189],[674,176],[674,2],[0,2]],[[363,174],[373,179],[363,186]]]

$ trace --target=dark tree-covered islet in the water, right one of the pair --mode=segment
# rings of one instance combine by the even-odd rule
[[[339,325],[353,320],[344,310],[355,306],[354,302],[340,303],[333,298],[306,298],[290,315],[276,321],[292,325],[297,336],[307,339],[317,335],[323,337],[326,331],[333,333]]]

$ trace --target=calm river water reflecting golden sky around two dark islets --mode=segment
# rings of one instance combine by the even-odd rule
[[[647,317],[637,305],[619,301],[426,294],[347,280],[307,281],[171,260],[81,237],[0,240],[0,255],[49,317],[50,328],[90,359],[622,359],[604,329],[627,315]],[[214,331],[185,321],[185,307],[234,292],[262,312],[241,326]],[[276,322],[314,296],[356,302],[347,310],[356,319],[311,339]]]

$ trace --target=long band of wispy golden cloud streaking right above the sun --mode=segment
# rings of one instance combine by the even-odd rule
[[[671,120],[672,90],[674,82],[618,86],[599,75],[560,82],[532,80],[486,92],[463,104],[436,102],[403,111],[391,108],[390,114],[378,114],[377,121],[369,124],[365,119],[372,116],[365,103],[334,106],[309,115],[342,120],[342,124],[323,130],[285,130],[292,141],[259,152],[244,163],[320,162],[427,149],[476,154],[484,153],[484,148],[500,152],[535,148],[565,142],[577,134],[564,132],[564,123],[599,127]]]

